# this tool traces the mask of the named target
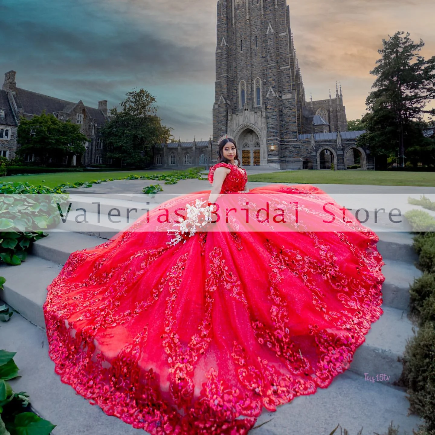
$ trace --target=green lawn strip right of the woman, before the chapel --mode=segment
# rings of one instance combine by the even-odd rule
[[[304,184],[372,184],[376,186],[435,187],[435,172],[285,171],[249,175],[249,181]]]

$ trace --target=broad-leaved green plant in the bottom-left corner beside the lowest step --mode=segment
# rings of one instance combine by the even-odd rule
[[[0,350],[0,434],[49,435],[56,426],[30,412],[29,395],[14,392],[7,382],[19,376],[15,354]]]

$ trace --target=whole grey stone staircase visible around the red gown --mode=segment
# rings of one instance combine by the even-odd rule
[[[1,328],[0,348],[17,351],[18,346],[23,352],[23,355],[17,354],[17,358],[23,359],[20,363],[16,358],[18,366],[21,369],[22,366],[28,367],[32,372],[35,368],[29,365],[26,358],[37,361],[36,371],[43,373],[44,378],[48,379],[47,385],[55,391],[62,391],[58,395],[56,393],[54,398],[47,390],[47,385],[41,386],[39,382],[37,385],[33,383],[30,387],[26,386],[24,374],[23,379],[18,381],[19,387],[30,393],[40,415],[58,425],[53,432],[57,435],[139,433],[122,422],[117,421],[114,424],[114,420],[117,419],[108,417],[101,411],[91,412],[90,408],[93,407],[75,395],[72,388],[62,385],[54,374],[47,348],[44,347],[42,351],[38,348],[41,346],[41,341],[43,346],[47,345],[47,339],[40,329],[45,326],[42,306],[47,294],[47,285],[60,272],[70,253],[103,243],[104,239],[112,237],[124,228],[127,225],[127,209],[137,208],[137,216],[139,216],[141,208],[151,210],[168,199],[163,196],[159,198],[158,195],[150,199],[140,194],[117,194],[111,197],[105,195],[105,197],[106,202],[97,197],[100,202],[100,213],[107,215],[110,208],[116,207],[120,210],[121,217],[115,217],[113,220],[120,220],[120,223],[94,225],[92,220],[97,219],[97,216],[90,213],[87,216],[90,224],[77,226],[75,222],[77,214],[71,211],[66,222],[60,224],[57,231],[50,232],[49,237],[33,244],[33,250],[27,261],[18,267],[4,264],[0,266],[0,275],[7,280],[4,290],[0,291],[0,299],[31,322],[30,324],[19,315],[14,315],[11,321]],[[83,195],[73,194],[71,210],[80,207],[89,210],[90,204],[96,202],[95,199],[96,197],[92,195],[84,198]],[[129,223],[132,223],[134,218],[131,218]],[[254,434],[323,435],[329,434],[340,423],[350,431],[351,435],[356,434],[364,426],[365,435],[386,432],[391,420],[396,425],[400,425],[401,430],[406,429],[408,433],[412,432],[412,428],[417,427],[420,420],[416,416],[407,416],[408,402],[405,392],[394,383],[402,372],[399,358],[403,354],[407,339],[413,336],[412,323],[407,318],[409,284],[420,276],[421,272],[414,265],[418,258],[412,249],[411,234],[380,231],[378,235],[380,237],[378,249],[386,263],[383,268],[386,278],[383,285],[384,314],[372,325],[365,342],[355,352],[350,369],[335,378],[328,388],[319,389],[315,395],[295,398],[291,403],[278,408],[276,413],[264,412],[258,423],[261,424],[271,418],[272,421],[261,428],[254,429]],[[21,333],[29,337],[39,337],[36,346],[27,338],[23,341],[27,345],[20,345],[23,339],[21,336],[14,335],[14,325],[18,325]],[[388,379],[368,380],[368,376],[376,377],[380,374],[385,374]],[[33,373],[29,377],[33,378]],[[31,381],[28,378],[26,380]],[[42,391],[46,391],[47,394],[41,394],[38,388],[42,388]],[[77,425],[76,418],[65,417],[68,412],[77,415],[79,412],[80,414],[83,412],[83,415],[91,413],[90,418],[93,419],[95,427],[81,429],[80,424]],[[307,418],[308,415],[310,419]]]

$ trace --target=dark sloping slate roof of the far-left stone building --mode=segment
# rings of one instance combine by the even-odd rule
[[[49,97],[48,95],[38,94],[31,90],[16,88],[14,94],[17,107],[23,108],[24,113],[32,115],[40,115],[43,110],[46,113],[66,112],[77,104],[67,100],[60,100],[60,98]],[[100,109],[85,106],[90,116],[94,118],[98,124],[104,124],[106,118]]]

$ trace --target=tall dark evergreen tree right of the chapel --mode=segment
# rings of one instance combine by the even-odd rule
[[[406,150],[427,145],[423,116],[435,115],[435,109],[428,108],[435,97],[435,56],[425,60],[419,54],[424,42],[414,43],[409,33],[403,35],[397,32],[382,40],[381,59],[370,71],[377,78],[366,100],[368,113],[361,119],[367,132],[358,138],[358,144],[374,155],[398,153],[401,166]]]

